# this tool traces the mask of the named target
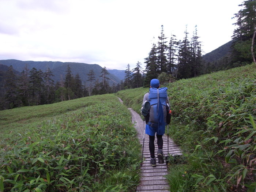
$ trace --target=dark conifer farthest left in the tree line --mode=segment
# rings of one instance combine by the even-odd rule
[[[6,72],[6,82],[5,82],[5,109],[12,109],[19,106],[18,101],[18,92],[16,85],[17,77],[14,73],[14,69],[12,65],[8,67],[8,71]]]

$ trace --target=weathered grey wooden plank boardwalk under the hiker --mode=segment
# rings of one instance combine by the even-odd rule
[[[132,122],[134,123],[134,127],[136,128],[138,134],[138,138],[140,143],[143,146],[143,136],[144,136],[144,122],[140,115],[136,113],[131,108],[128,108],[132,114]],[[166,130],[167,132],[167,130]],[[137,192],[169,192],[169,185],[167,183],[166,178],[164,177],[167,174],[167,167],[166,163],[158,164],[157,159],[157,166],[152,167],[150,165],[150,152],[148,148],[148,135],[145,134],[144,140],[144,151],[143,151],[143,164],[140,169],[140,184],[138,185],[136,191]],[[157,155],[157,138],[155,137],[155,155]],[[163,155],[167,156],[167,136],[163,136]],[[171,155],[181,155],[181,151],[179,147],[174,144],[173,140],[169,138],[169,154]]]

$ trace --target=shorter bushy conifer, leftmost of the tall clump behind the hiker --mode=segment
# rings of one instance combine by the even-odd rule
[[[151,79],[155,79],[158,76],[158,66],[157,66],[157,48],[156,45],[153,43],[153,46],[148,53],[148,57],[145,58],[146,64],[146,76],[143,81],[143,86],[148,87],[150,84]]]

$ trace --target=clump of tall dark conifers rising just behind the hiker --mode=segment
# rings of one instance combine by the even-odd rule
[[[203,73],[203,60],[201,42],[197,36],[197,29],[189,39],[187,27],[184,31],[184,39],[177,40],[172,34],[169,42],[164,34],[163,25],[157,44],[153,43],[148,57],[145,58],[144,86],[151,79],[165,76],[165,82],[170,79],[192,78]]]

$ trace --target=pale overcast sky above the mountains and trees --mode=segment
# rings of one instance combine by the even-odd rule
[[[135,68],[161,35],[192,37],[203,54],[231,40],[242,0],[0,0],[0,60]],[[154,38],[155,37],[155,38]],[[169,41],[169,39],[168,39]]]

